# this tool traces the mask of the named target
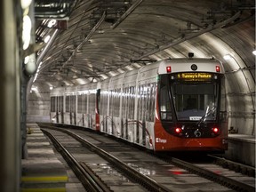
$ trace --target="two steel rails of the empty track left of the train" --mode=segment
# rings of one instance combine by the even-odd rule
[[[47,131],[46,129],[42,129],[47,136],[50,137],[54,146],[57,147],[58,151],[61,152],[61,155],[68,161],[68,164],[72,166],[72,170],[76,172],[77,177],[81,180],[84,188],[88,188],[88,191],[112,191],[104,182],[99,180],[98,176],[95,175],[92,171],[87,174],[87,170],[90,171],[90,168],[85,163],[78,163],[77,160],[72,157],[72,155],[68,152],[66,148],[64,148],[60,141],[58,141],[51,132]],[[170,192],[168,188],[164,188],[159,183],[156,183],[155,180],[151,180],[147,176],[141,174],[134,170],[131,166],[124,164],[122,161],[118,160],[115,156],[110,155],[106,151],[98,148],[97,146],[93,145],[91,142],[84,140],[84,138],[80,137],[74,132],[70,132],[68,130],[60,130],[61,132],[66,132],[71,135],[76,140],[80,141],[82,145],[86,148],[90,148],[94,153],[97,153],[99,156],[103,157],[107,160],[110,164],[115,166],[119,172],[123,172],[129,180],[134,180],[140,184],[142,188],[145,188],[145,191],[163,191],[163,192]],[[71,162],[71,163],[69,163]],[[87,169],[85,169],[86,167]]]

